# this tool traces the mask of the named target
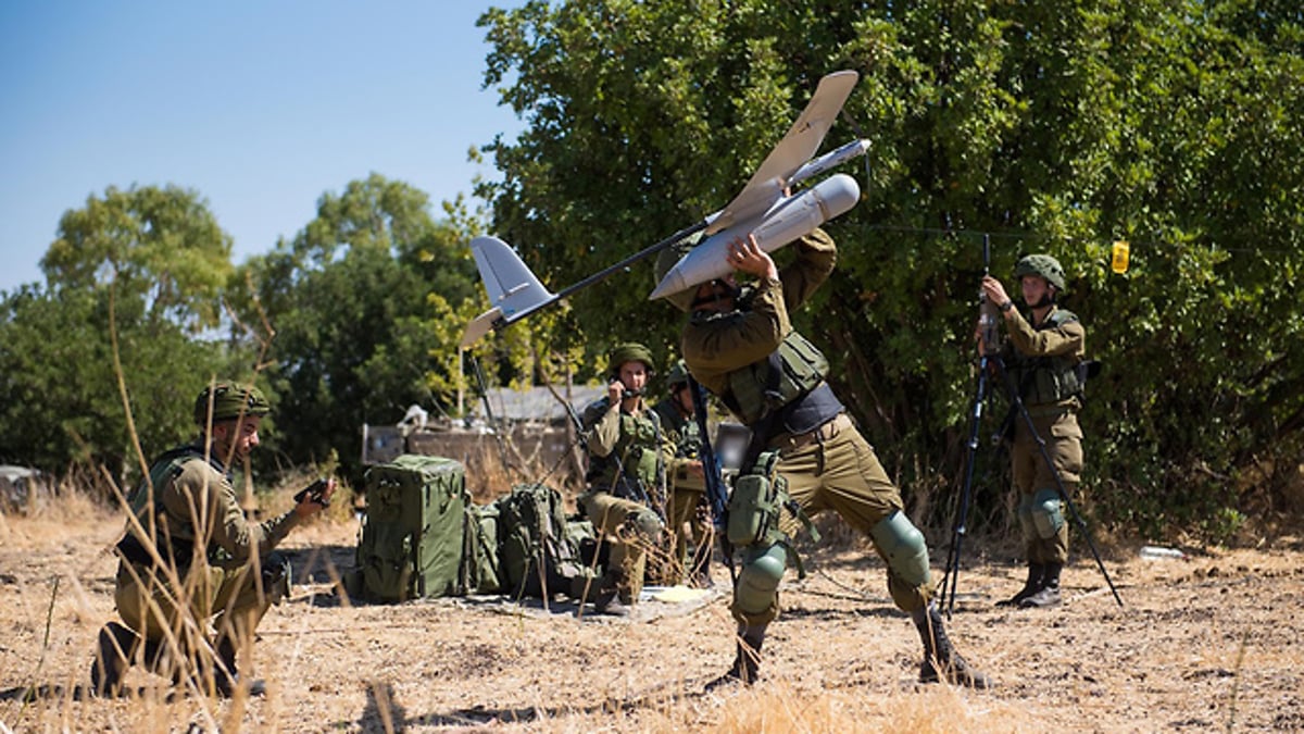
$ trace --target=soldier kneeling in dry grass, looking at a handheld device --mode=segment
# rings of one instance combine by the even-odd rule
[[[258,445],[267,411],[252,385],[205,388],[194,402],[200,439],[160,456],[128,498],[113,594],[123,623],[99,632],[90,674],[96,695],[117,695],[132,663],[223,697],[245,683],[236,650],[252,646],[258,622],[289,590],[289,564],[270,551],[335,494],[329,479],[284,515],[245,520],[230,468]],[[263,692],[259,682],[246,688]]]

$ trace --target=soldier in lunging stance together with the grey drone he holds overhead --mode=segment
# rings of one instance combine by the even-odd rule
[[[728,500],[728,528],[721,528],[725,498],[712,479],[716,471],[705,471],[717,530],[743,551],[732,605],[738,654],[721,680],[755,680],[767,627],[778,614],[778,582],[788,566],[798,562],[789,530],[798,520],[808,524],[808,513],[833,509],[867,535],[887,562],[892,598],[910,614],[923,641],[921,680],[987,687],[990,679],[956,653],[932,603],[923,535],[905,516],[900,492],[825,383],[823,354],[793,330],[789,317],[833,269],[836,247],[819,226],[859,200],[858,184],[845,174],[794,189],[867,150],[867,140],[855,140],[814,158],[857,78],[850,71],[824,76],[784,138],[724,209],[557,294],[544,287],[507,243],[472,240],[493,306],[468,324],[462,346],[660,253],[651,298],[666,298],[691,312],[682,343],[689,371],[725,401],[754,438]],[[798,243],[797,261],[780,273],[768,252],[793,242]],[[755,276],[756,285],[739,289],[734,270]],[[695,393],[700,419],[704,402]],[[713,458],[707,464],[719,469]]]

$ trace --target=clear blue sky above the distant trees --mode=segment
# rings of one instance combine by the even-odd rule
[[[233,260],[378,172],[439,201],[523,127],[481,90],[494,3],[0,3],[0,291],[43,281],[59,218],[110,185],[207,199]]]

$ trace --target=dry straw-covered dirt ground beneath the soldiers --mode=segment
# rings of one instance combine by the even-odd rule
[[[994,607],[1022,569],[971,542],[949,630],[990,691],[917,684],[918,636],[878,558],[816,550],[805,580],[785,580],[762,680],[707,691],[733,658],[728,594],[632,622],[466,599],[349,606],[330,567],[351,566],[356,524],[318,522],[291,535],[293,597],[241,663],[265,697],[211,700],[133,670],[124,697],[99,700],[85,687],[121,528],[90,505],[0,516],[0,731],[1304,730],[1299,538],[1184,560],[1112,547],[1121,609],[1078,555],[1051,611]],[[715,577],[728,585],[722,566]]]

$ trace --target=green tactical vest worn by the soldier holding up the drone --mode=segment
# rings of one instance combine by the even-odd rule
[[[747,426],[781,411],[818,388],[828,374],[828,360],[795,330],[765,358],[729,374],[721,400]]]

